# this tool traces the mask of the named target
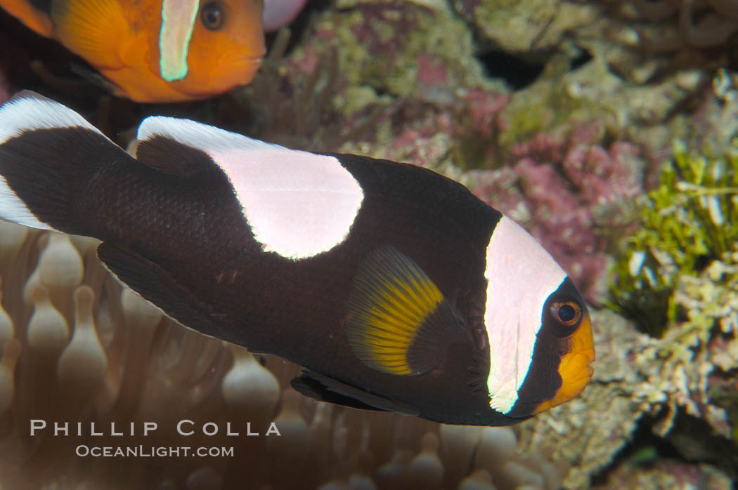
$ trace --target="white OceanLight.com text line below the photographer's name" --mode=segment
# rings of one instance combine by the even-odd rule
[[[88,446],[80,444],[75,453],[81,458],[232,458],[233,447],[215,446]]]

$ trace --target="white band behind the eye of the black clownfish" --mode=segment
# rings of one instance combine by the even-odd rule
[[[503,216],[489,239],[484,276],[490,406],[508,413],[533,360],[545,301],[566,273],[527,231]]]

